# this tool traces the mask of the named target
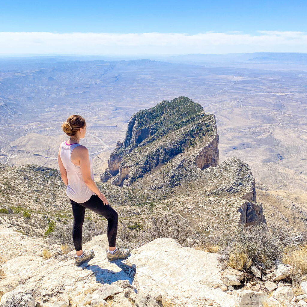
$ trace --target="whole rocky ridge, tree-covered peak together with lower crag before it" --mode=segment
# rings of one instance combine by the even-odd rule
[[[266,222],[251,169],[236,157],[219,165],[215,115],[186,97],[135,113],[108,165],[102,181],[165,201],[199,230]]]

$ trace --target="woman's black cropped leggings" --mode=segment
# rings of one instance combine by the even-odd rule
[[[102,216],[108,221],[107,237],[110,247],[115,247],[117,236],[118,214],[109,205],[103,204],[103,201],[97,196],[92,195],[89,200],[84,203],[76,203],[69,198],[72,203],[72,213],[74,216],[74,225],[72,228],[72,241],[76,251],[82,250],[82,226],[84,222],[85,208],[88,208]]]

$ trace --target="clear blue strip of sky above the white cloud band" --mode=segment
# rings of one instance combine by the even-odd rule
[[[0,1],[1,32],[306,31],[307,1]]]

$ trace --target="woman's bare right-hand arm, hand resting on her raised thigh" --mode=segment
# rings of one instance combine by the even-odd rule
[[[88,154],[88,149],[84,146],[80,146],[80,169],[82,173],[82,178],[84,180],[84,183],[90,188],[97,196],[103,201],[103,203],[109,204],[107,201],[106,196],[103,195],[97,188],[95,181],[91,178],[91,169],[90,169],[90,158]]]

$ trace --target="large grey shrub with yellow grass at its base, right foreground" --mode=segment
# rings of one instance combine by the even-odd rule
[[[272,267],[274,260],[281,260],[284,248],[291,244],[289,231],[281,228],[262,224],[228,231],[220,239],[220,262],[238,270],[247,270],[252,264]]]

